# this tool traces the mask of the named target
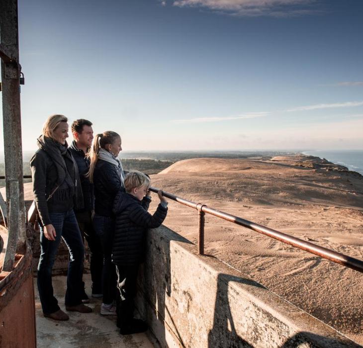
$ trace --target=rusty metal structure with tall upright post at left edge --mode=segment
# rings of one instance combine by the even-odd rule
[[[0,59],[6,200],[0,194],[0,346],[36,347],[32,252],[26,241],[17,0],[0,0]],[[0,238],[1,238],[0,236]],[[2,243],[1,243],[2,246]],[[2,251],[0,250],[0,253]]]

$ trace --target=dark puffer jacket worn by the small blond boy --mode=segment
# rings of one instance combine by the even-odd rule
[[[159,204],[155,213],[147,212],[151,199],[139,201],[133,195],[119,191],[113,204],[115,235],[112,262],[119,265],[136,265],[143,260],[144,239],[148,228],[159,227],[167,216],[168,208]]]

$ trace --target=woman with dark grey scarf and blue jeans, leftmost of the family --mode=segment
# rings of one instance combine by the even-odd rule
[[[73,207],[82,207],[83,196],[77,165],[68,150],[68,119],[63,115],[48,117],[43,134],[38,138],[39,150],[30,160],[33,194],[39,213],[40,258],[38,290],[45,317],[68,320],[53,295],[52,267],[61,237],[69,253],[66,310],[91,312],[82,303],[84,246]]]

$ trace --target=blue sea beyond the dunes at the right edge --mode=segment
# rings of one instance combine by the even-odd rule
[[[325,158],[329,162],[348,167],[350,171],[363,175],[363,150],[310,150],[302,153]]]

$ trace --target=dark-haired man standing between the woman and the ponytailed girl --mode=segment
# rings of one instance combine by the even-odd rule
[[[75,210],[78,224],[83,238],[86,238],[91,251],[91,279],[92,297],[102,297],[101,277],[103,267],[103,255],[99,238],[95,234],[92,226],[92,211],[94,207],[93,185],[86,174],[90,168],[90,160],[87,153],[91,147],[93,139],[92,123],[83,118],[72,123],[73,142],[69,147],[77,163],[81,178],[81,185],[84,197],[84,208]],[[82,301],[90,301],[84,289]]]

